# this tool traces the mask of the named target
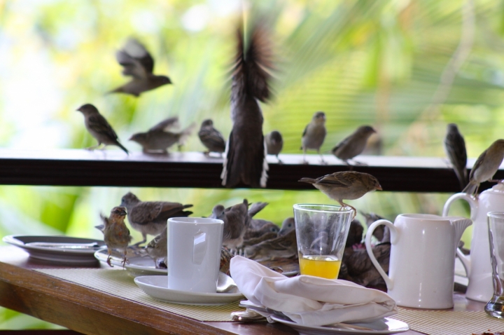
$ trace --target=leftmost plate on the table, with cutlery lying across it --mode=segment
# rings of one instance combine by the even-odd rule
[[[54,235],[8,235],[2,240],[25,249],[34,259],[81,265],[96,264],[94,252],[105,247],[102,240]]]

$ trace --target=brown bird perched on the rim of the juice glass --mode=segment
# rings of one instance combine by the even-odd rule
[[[357,211],[351,205],[343,203],[344,199],[356,200],[367,192],[381,191],[378,179],[367,173],[356,171],[335,172],[317,179],[301,178],[299,181],[312,184],[326,196],[336,200],[342,207],[350,207],[353,210],[353,217],[356,216]]]

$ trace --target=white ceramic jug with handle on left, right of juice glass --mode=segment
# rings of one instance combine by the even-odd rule
[[[388,275],[372,253],[371,236],[384,224],[391,232]],[[430,214],[400,214],[394,224],[378,220],[365,236],[372,264],[384,278],[387,293],[398,306],[451,308],[453,302],[455,250],[470,219]]]

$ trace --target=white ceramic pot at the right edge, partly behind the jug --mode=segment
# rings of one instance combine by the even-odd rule
[[[465,256],[457,249],[457,257],[461,259],[469,278],[465,296],[472,300],[488,302],[493,296],[493,282],[486,213],[504,211],[504,184],[499,183],[483,191],[477,199],[467,193],[454,194],[444,204],[443,216],[448,214],[451,203],[458,199],[469,203],[470,218],[474,222],[470,255]]]

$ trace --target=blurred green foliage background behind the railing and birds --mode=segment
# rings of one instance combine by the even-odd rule
[[[474,25],[463,20],[463,8],[470,8],[465,13]],[[503,1],[0,0],[0,146],[94,144],[75,112],[86,102],[133,151],[139,146],[126,139],[167,116],[179,116],[182,126],[211,117],[227,135],[229,69],[242,13],[267,17],[272,27],[275,97],[263,105],[264,130],[282,132],[284,153],[300,153],[302,130],[318,110],[328,119],[323,151],[363,123],[379,130],[381,152],[391,156],[443,156],[449,122],[458,123],[470,157],[502,137]],[[469,36],[462,32],[473,34],[468,56],[446,99],[432,106],[447,64]],[[104,95],[126,80],[114,52],[128,36],[146,44],[155,73],[169,74],[173,86],[138,99]],[[184,150],[203,147],[193,136]],[[260,216],[276,223],[291,215],[294,203],[330,203],[318,191],[0,186],[0,235],[99,238],[93,228],[99,212],[109,212],[127,191],[143,200],[193,203],[195,216],[244,197],[267,201]],[[394,219],[401,212],[440,214],[448,196],[385,191],[352,205]],[[466,214],[465,208],[459,204],[454,213]],[[463,239],[470,242],[470,231]],[[0,329],[25,327],[55,326],[0,310]]]

